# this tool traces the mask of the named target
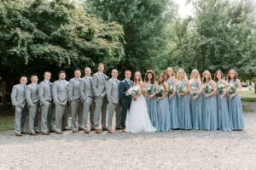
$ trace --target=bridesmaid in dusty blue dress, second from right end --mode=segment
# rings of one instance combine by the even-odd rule
[[[224,74],[222,71],[216,71],[214,81],[217,83],[217,106],[218,106],[218,129],[224,131],[231,131],[230,115],[227,102],[227,88],[228,83],[224,81]]]

